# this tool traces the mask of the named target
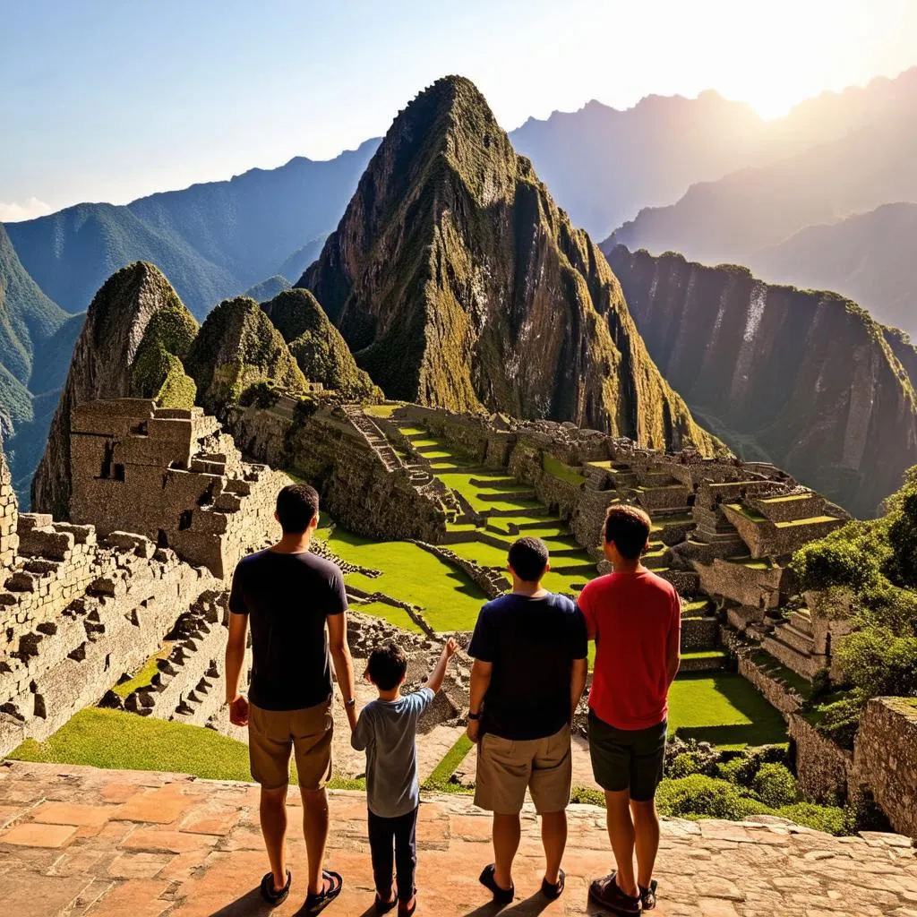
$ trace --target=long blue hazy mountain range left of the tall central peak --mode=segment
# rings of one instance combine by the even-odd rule
[[[203,317],[226,296],[282,272],[291,252],[328,232],[377,144],[367,140],[323,162],[297,157],[279,169],[252,169],[125,206],[77,204],[7,229],[27,271],[66,309],[83,311],[113,271],[147,260]]]

